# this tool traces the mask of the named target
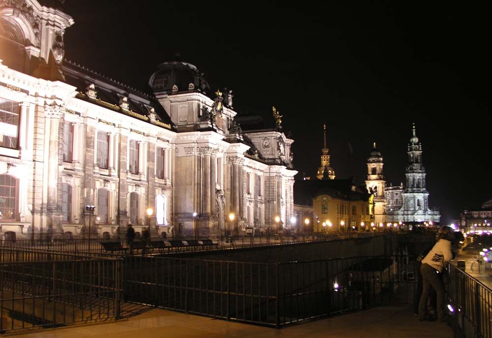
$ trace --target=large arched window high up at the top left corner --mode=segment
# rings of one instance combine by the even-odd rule
[[[0,50],[2,63],[9,68],[24,71],[24,33],[12,16],[0,17]]]

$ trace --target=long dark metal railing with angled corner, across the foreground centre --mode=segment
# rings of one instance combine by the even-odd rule
[[[126,256],[124,300],[280,328],[414,299],[414,260],[374,256],[246,263]]]

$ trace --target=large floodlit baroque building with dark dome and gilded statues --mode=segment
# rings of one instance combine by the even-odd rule
[[[184,62],[159,65],[150,94],[63,62],[73,23],[36,0],[0,2],[2,237],[112,237],[128,223],[209,236],[290,219],[293,140],[279,119],[240,128],[230,92]]]

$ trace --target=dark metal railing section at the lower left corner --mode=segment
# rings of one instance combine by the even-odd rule
[[[0,333],[121,317],[123,260],[0,248]]]

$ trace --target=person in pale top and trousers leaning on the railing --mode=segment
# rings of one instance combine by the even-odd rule
[[[437,294],[437,320],[445,322],[447,315],[444,307],[444,283],[441,278],[443,269],[453,259],[451,242],[453,241],[453,228],[444,226],[436,234],[436,243],[431,251],[422,260],[420,272],[422,273],[422,296],[419,302],[419,320],[428,319],[427,303],[430,298],[431,288]]]

